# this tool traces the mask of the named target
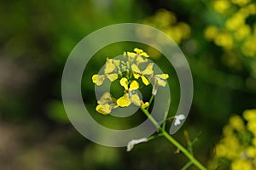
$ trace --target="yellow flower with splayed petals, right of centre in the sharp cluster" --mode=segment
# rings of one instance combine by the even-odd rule
[[[133,72],[133,77],[138,79],[139,77],[142,78],[143,83],[148,86],[149,81],[148,78],[145,77],[144,75],[152,75],[154,73],[153,71],[153,65],[154,63],[149,63],[148,66],[146,67],[146,69],[144,71],[140,71],[140,69],[138,68],[137,65],[132,64],[131,65],[131,70]]]

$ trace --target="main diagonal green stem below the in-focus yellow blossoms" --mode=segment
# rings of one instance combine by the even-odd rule
[[[150,115],[150,113],[148,112],[148,110],[143,109],[143,108],[141,108],[141,110],[143,111],[143,113],[144,113],[146,116],[148,116],[148,119],[154,124],[154,126],[157,127],[158,130],[160,130],[160,132],[163,134],[163,136],[164,136],[169,142],[171,142],[172,144],[174,144],[179,150],[181,150],[181,151],[183,152],[183,154],[184,154],[185,156],[187,156],[187,157],[189,158],[189,160],[192,161],[193,164],[194,164],[196,167],[198,167],[198,168],[201,169],[201,170],[207,170],[207,168],[204,167],[203,165],[201,165],[201,163],[200,163],[199,161],[197,161],[197,160],[195,159],[195,157],[192,156],[192,155],[189,153],[189,151],[186,150],[186,149],[183,147],[182,144],[179,144],[179,143],[177,142],[177,140],[173,139],[172,136],[171,136],[169,133],[166,132],[165,129],[163,129],[162,127],[160,127],[160,124],[154,120],[154,117]]]

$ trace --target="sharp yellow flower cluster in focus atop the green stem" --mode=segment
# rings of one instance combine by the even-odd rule
[[[124,94],[118,99],[106,92],[97,101],[96,111],[108,115],[114,108],[126,107],[131,104],[142,108],[148,107],[148,102],[138,95],[137,90],[152,84],[152,94],[157,93],[157,88],[166,86],[168,74],[154,74],[154,63],[149,62],[149,55],[142,49],[135,48],[134,52],[125,52],[122,59],[108,59],[104,65],[103,74],[92,76],[92,82],[101,86],[105,80],[119,84],[124,88]]]

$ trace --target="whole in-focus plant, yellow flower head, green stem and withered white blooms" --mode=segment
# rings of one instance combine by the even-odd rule
[[[122,59],[108,59],[104,66],[103,74],[95,74],[92,76],[92,82],[97,86],[101,86],[104,81],[110,82],[119,81],[119,85],[123,88],[123,94],[118,99],[113,98],[112,94],[105,92],[97,101],[96,111],[102,115],[108,115],[115,108],[124,108],[129,105],[137,105],[141,111],[148,117],[148,119],[157,128],[157,134],[148,138],[132,139],[127,144],[127,151],[132,150],[135,144],[148,142],[158,136],[164,136],[169,142],[174,144],[178,150],[183,152],[189,158],[189,162],[183,167],[186,169],[192,164],[200,169],[206,169],[199,161],[195,159],[193,153],[189,149],[185,149],[182,144],[179,144],[172,136],[166,132],[166,122],[174,120],[174,126],[181,124],[185,116],[183,114],[168,117],[168,111],[165,113],[162,124],[157,122],[150,114],[150,105],[157,95],[158,88],[166,87],[169,75],[166,73],[158,74],[154,71],[154,63],[148,59],[149,55],[142,49],[135,48],[134,52],[125,52]],[[149,101],[143,101],[138,93],[138,89],[144,86],[152,85],[151,98]],[[167,104],[169,106],[169,102]],[[188,142],[189,147],[191,143]],[[188,148],[189,148],[188,147]]]

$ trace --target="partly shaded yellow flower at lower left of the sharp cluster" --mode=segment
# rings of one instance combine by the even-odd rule
[[[96,106],[96,111],[101,113],[102,115],[108,115],[113,108],[117,107],[113,102],[115,99],[111,97],[111,94],[106,92],[102,95],[101,99],[98,100],[98,105]]]

